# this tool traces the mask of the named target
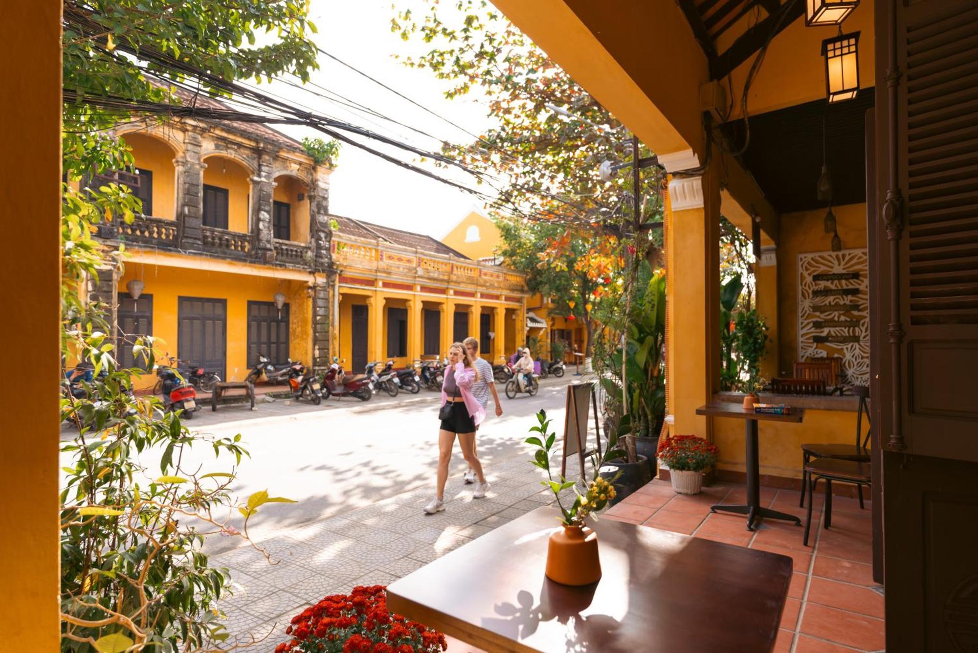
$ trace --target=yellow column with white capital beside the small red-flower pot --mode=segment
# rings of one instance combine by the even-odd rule
[[[668,266],[667,378],[673,433],[709,437],[696,409],[719,386],[720,190],[710,166],[703,177],[675,177],[666,210]]]

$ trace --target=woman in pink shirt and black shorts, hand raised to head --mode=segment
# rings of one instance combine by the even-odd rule
[[[466,457],[466,462],[475,471],[478,479],[472,497],[482,499],[489,490],[474,449],[475,427],[486,415],[471,393],[475,379],[475,368],[468,358],[466,348],[461,342],[456,342],[448,350],[448,368],[441,385],[441,405],[451,403],[452,414],[441,420],[441,430],[438,432],[438,486],[435,498],[424,506],[424,512],[428,514],[445,509],[445,481],[448,480],[448,463],[452,461],[452,446],[456,435],[459,436],[462,455]]]

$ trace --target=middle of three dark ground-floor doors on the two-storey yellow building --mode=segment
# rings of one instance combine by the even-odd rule
[[[177,357],[227,378],[226,299],[179,297]]]

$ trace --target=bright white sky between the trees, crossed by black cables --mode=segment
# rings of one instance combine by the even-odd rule
[[[416,16],[425,11],[421,0],[394,2],[399,8],[411,7]],[[442,5],[442,9],[452,11],[448,5]],[[409,68],[393,59],[391,55],[395,53],[401,56],[417,55],[424,46],[420,40],[402,41],[391,32],[390,19],[393,16],[391,0],[312,0],[310,10],[310,18],[319,29],[314,39],[323,50],[468,131],[482,133],[491,123],[486,118],[485,108],[476,104],[475,99],[463,97],[446,100],[443,95],[445,82],[435,79],[430,70]],[[472,140],[465,132],[412,106],[330,58],[320,55],[318,61],[320,70],[314,73],[312,80],[316,84],[439,139],[453,143]],[[337,106],[288,85],[274,83],[265,88],[271,88],[276,95],[288,98],[294,104],[396,137],[425,151],[440,149],[439,142],[405,127],[391,125],[377,117],[365,117],[362,112]],[[315,87],[312,90],[323,93]],[[280,129],[295,138],[323,136],[304,127],[287,126]],[[418,163],[419,157],[411,152],[375,147]],[[426,167],[435,170],[430,165]],[[464,172],[435,171],[456,181],[466,180],[469,186],[474,187],[473,180]],[[486,190],[485,187],[481,189]],[[436,239],[444,237],[471,209],[481,209],[483,204],[483,200],[477,196],[445,186],[349,145],[344,145],[340,151],[336,171],[331,177],[330,210],[334,214],[419,232]]]

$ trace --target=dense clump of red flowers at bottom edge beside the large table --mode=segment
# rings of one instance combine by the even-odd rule
[[[387,651],[436,653],[445,650],[445,635],[387,611],[385,587],[358,586],[349,594],[332,594],[292,617],[287,642],[275,653]]]

